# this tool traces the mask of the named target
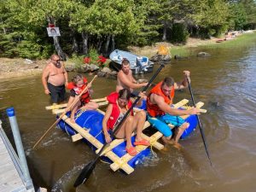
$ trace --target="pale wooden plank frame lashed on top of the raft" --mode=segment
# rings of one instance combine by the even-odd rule
[[[105,99],[106,98],[102,98]],[[102,102],[102,99],[97,100],[97,102]],[[187,99],[183,99],[181,102],[177,102],[176,104],[172,105],[172,108],[190,108],[190,107],[184,107],[189,102]],[[203,106],[203,102],[198,102],[196,107],[201,108]],[[64,110],[64,109],[63,109]],[[100,113],[104,114],[104,112],[100,109],[97,109]],[[183,116],[183,119],[186,119],[187,116]],[[103,144],[96,139],[96,137],[93,137],[89,131],[86,131],[84,128],[77,124],[71,123],[70,119],[65,115],[62,118],[68,125],[70,125],[73,130],[77,131],[78,134],[72,136],[73,142],[76,142],[82,138],[85,138],[87,141],[89,141],[92,145],[94,145],[96,149],[96,154],[99,152],[99,150],[102,148]],[[150,124],[148,121],[145,122],[145,125],[143,127],[143,130],[148,128]],[[173,127],[173,125],[169,125],[170,127]],[[134,135],[134,133],[133,133]],[[142,135],[142,137],[151,143],[154,148],[162,149],[164,146],[161,143],[158,143],[158,139],[162,137],[163,134],[159,131],[155,132],[152,136],[148,137],[146,135]],[[131,156],[130,154],[125,154],[122,157],[119,157],[117,154],[114,154],[112,149],[118,146],[120,143],[125,142],[125,139],[114,139],[109,145],[103,150],[101,155],[107,156],[110,160],[113,161],[113,163],[110,165],[110,168],[115,172],[118,169],[122,169],[127,174],[131,174],[131,172],[134,172],[134,169],[128,164],[129,160],[134,158],[134,156]],[[137,154],[141,153],[144,149],[148,148],[148,146],[136,146]]]

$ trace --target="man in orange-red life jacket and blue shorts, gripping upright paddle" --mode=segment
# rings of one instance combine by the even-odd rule
[[[189,110],[171,108],[175,90],[188,87],[186,78],[189,79],[189,71],[183,71],[183,73],[182,82],[176,83],[172,78],[166,78],[150,90],[147,98],[148,122],[163,133],[162,139],[165,143],[172,143],[177,148],[180,148],[177,143],[179,138],[183,131],[189,127],[189,123],[179,116],[200,113],[197,108],[190,108]],[[172,130],[167,124],[177,127],[174,136],[172,136]]]

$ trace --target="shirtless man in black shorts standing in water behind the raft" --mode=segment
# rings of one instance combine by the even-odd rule
[[[44,93],[50,95],[53,103],[62,102],[65,99],[67,81],[67,71],[61,63],[60,57],[51,55],[50,61],[43,71],[42,83]]]

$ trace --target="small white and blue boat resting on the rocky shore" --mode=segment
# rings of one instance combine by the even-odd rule
[[[112,61],[110,67],[116,71],[120,70],[122,61],[126,59],[130,62],[131,71],[134,74],[153,72],[154,62],[149,61],[147,56],[139,56],[128,51],[115,49],[109,55],[109,59]]]

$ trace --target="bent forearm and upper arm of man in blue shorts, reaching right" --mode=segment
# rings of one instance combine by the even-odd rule
[[[190,108],[189,110],[181,110],[181,109],[177,109],[177,108],[171,108],[171,106],[165,102],[165,100],[162,96],[157,96],[155,94],[152,94],[151,96],[153,99],[153,103],[156,103],[158,105],[158,107],[165,113],[169,113],[171,115],[176,115],[176,116],[200,113],[198,108]]]

